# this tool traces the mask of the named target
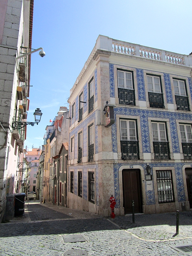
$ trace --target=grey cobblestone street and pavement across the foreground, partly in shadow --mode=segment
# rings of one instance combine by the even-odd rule
[[[26,203],[25,214],[0,224],[0,255],[63,255],[81,249],[88,255],[183,255],[171,246],[192,244],[192,211],[120,216],[114,220],[60,206]],[[48,219],[48,220],[42,220]],[[85,242],[65,243],[63,237],[81,234]],[[190,254],[185,254],[190,255]]]

